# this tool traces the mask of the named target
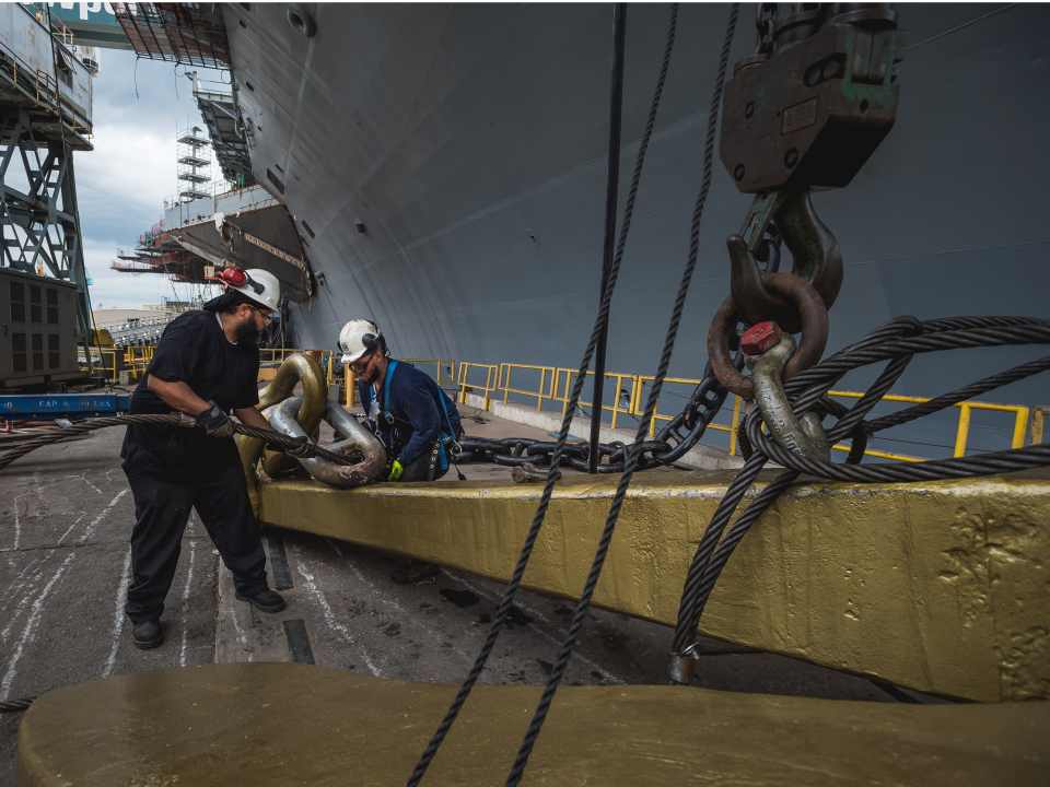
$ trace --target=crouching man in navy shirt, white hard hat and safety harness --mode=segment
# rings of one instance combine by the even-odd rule
[[[463,435],[459,412],[431,377],[389,357],[386,340],[370,320],[351,320],[339,334],[342,362],[358,377],[370,428],[386,448],[388,481],[435,481],[454,463]],[[459,479],[463,480],[459,474]],[[396,582],[433,576],[432,563],[413,561]]]

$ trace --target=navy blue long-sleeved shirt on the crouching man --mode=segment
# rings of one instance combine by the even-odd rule
[[[383,445],[390,445],[392,432],[394,435],[395,447],[397,444],[404,445],[396,459],[401,465],[408,467],[419,455],[427,450],[428,446],[438,437],[438,433],[445,424],[445,412],[441,404],[444,400],[445,410],[448,412],[448,422],[452,427],[459,423],[459,411],[430,375],[420,372],[404,361],[398,361],[390,375],[390,400],[383,401],[386,380],[380,387],[376,396],[371,385],[358,381],[358,395],[364,407],[365,414],[369,412],[369,406],[373,399],[378,399],[380,409],[389,410],[397,419],[393,424],[387,423],[386,419],[380,415],[376,419],[376,435]],[[406,423],[407,422],[407,423]]]

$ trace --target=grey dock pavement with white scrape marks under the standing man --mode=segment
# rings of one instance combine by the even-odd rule
[[[472,409],[462,412],[467,416]],[[464,420],[467,434],[553,439],[540,428],[482,416],[483,424]],[[162,618],[165,642],[137,649],[124,615],[135,507],[120,468],[122,438],[120,427],[102,430],[88,439],[38,449],[0,470],[0,700],[214,661],[312,658],[382,678],[458,683],[466,676],[501,585],[453,571],[398,585],[390,571],[404,563],[401,557],[269,530],[264,543],[270,584],[291,587],[281,589],[288,602],[283,612],[262,614],[233,597],[232,578],[196,514]],[[470,479],[510,474],[494,465],[462,465],[460,470]],[[454,471],[445,478],[454,479]],[[521,591],[481,682],[544,683],[572,611],[562,599]],[[565,683],[664,683],[670,637],[664,626],[592,610]],[[703,639],[702,651],[693,684],[709,689],[941,702],[714,639]],[[0,714],[0,786],[16,780],[20,719],[21,714]]]

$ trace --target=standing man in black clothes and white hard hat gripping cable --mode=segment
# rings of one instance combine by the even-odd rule
[[[125,611],[140,648],[164,641],[160,618],[190,508],[233,573],[236,597],[264,612],[284,608],[267,586],[266,555],[228,416],[232,410],[242,423],[272,431],[255,409],[257,342],[277,310],[280,286],[262,270],[228,269],[224,279],[226,291],[205,310],[168,324],[131,397],[132,414],[176,410],[206,426],[133,424],[124,438],[120,456],[136,518]]]

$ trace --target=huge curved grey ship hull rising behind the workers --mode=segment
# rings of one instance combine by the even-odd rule
[[[285,201],[323,279],[312,303],[292,305],[296,343],[334,348],[345,321],[370,317],[396,355],[578,365],[600,279],[611,7],[305,7],[312,38],[283,5],[223,4],[254,173]],[[898,10],[909,49],[896,127],[848,188],[814,195],[845,260],[829,351],[898,315],[1050,310],[1041,98],[1050,9]],[[727,4],[680,10],[612,302],[614,372],[656,366],[727,15]],[[754,48],[750,15],[745,5],[731,63]],[[621,213],[667,22],[666,5],[629,5]],[[702,374],[708,326],[728,294],[725,238],[749,202],[716,161],[674,375]],[[1024,348],[926,356],[894,392],[935,396],[1030,357]],[[1042,404],[1046,390],[1035,378],[995,398]],[[970,447],[1008,447],[1007,421],[977,421]],[[948,415],[910,439],[949,445],[954,433]]]

